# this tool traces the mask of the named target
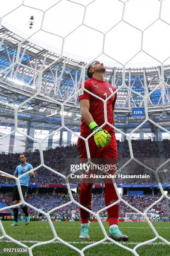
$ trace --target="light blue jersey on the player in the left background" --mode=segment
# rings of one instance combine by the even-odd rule
[[[17,177],[20,177],[22,174],[24,174],[25,172],[28,172],[30,170],[32,170],[33,167],[31,164],[25,164],[24,166],[22,166],[21,164],[17,166],[17,168],[15,169],[14,174]],[[22,178],[20,178],[20,185],[21,186],[28,186],[28,182],[30,179],[30,173],[25,174]]]

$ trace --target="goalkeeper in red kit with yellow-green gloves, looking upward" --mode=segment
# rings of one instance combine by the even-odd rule
[[[99,61],[92,62],[87,69],[87,76],[90,79],[85,81],[85,89],[103,100],[106,100],[116,89],[105,81],[104,74],[104,65]],[[117,94],[115,93],[115,95],[112,95],[112,97],[107,100],[107,121],[111,125],[114,125],[114,107],[116,97]],[[82,115],[82,124],[80,128],[81,136],[83,138],[87,138],[90,133],[97,130],[96,133],[94,133],[94,136],[91,136],[88,139],[90,158],[104,159],[105,162],[107,159],[108,161],[109,159],[115,159],[117,163],[117,143],[113,128],[106,124],[101,129],[98,129],[103,123],[105,123],[104,104],[102,100],[99,100],[97,97],[81,90],[79,92],[79,103]],[[80,158],[87,159],[85,141],[78,138],[77,146]],[[114,170],[114,172],[115,171],[116,170]],[[80,204],[88,209],[90,209],[92,186],[93,182],[83,179],[80,189]],[[105,205],[111,205],[117,200],[118,197],[112,184],[112,180],[105,179]],[[128,236],[123,235],[118,228],[118,213],[118,204],[107,209],[109,237],[115,241],[127,241]],[[79,238],[89,239],[89,212],[80,208],[80,216],[81,231]]]

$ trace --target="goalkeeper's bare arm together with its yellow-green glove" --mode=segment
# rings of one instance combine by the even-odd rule
[[[80,110],[81,110],[82,118],[85,120],[85,122],[90,127],[90,129],[92,131],[95,131],[99,127],[97,123],[95,123],[95,121],[93,120],[92,115],[89,112],[89,108],[90,108],[89,100],[86,100],[86,99],[80,100]],[[99,148],[100,146],[101,147],[107,146],[108,143],[110,142],[110,137],[111,137],[110,134],[104,129],[97,130],[96,133],[94,134],[94,139],[97,147]]]

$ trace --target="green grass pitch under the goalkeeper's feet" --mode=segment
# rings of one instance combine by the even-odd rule
[[[18,227],[10,227],[10,221],[3,221],[2,224],[5,228],[7,235],[21,241],[27,246],[32,246],[40,241],[47,241],[53,238],[52,231],[48,222],[31,221],[28,226],[25,226],[25,222],[19,222]],[[71,245],[82,249],[83,247],[100,241],[104,238],[102,230],[97,222],[91,222],[90,224],[90,240],[78,239],[80,233],[80,222],[53,222],[57,235],[63,240],[69,242]],[[108,223],[103,223],[105,230],[108,232]],[[170,241],[170,223],[153,223],[158,234]],[[119,223],[120,230],[124,234],[129,236],[129,241],[123,242],[125,246],[134,248],[138,243],[150,240],[155,237],[153,231],[149,227],[148,223]],[[0,232],[0,236],[2,233]],[[21,248],[15,243],[10,242],[6,238],[0,241],[0,255],[29,255],[28,253],[4,253],[2,248]],[[32,250],[34,256],[77,256],[80,255],[71,248],[59,243],[58,241],[43,246],[35,247]],[[170,256],[170,246],[166,245],[161,240],[156,240],[150,245],[141,246],[137,249],[137,253],[140,256]],[[134,255],[130,251],[127,251],[119,246],[116,246],[110,241],[106,243],[94,246],[87,249],[84,252],[85,256],[131,256]]]

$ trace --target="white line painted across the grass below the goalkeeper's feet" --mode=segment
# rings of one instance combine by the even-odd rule
[[[6,243],[13,243],[12,241],[10,241],[10,240],[0,240],[0,242],[1,243],[3,243],[3,242],[6,242]],[[30,240],[30,241],[27,241],[27,240],[23,240],[23,241],[19,241],[19,242],[21,242],[21,243],[41,243],[41,242],[43,242],[43,241],[32,241],[32,240]],[[95,242],[97,242],[97,241],[66,241],[67,243],[70,243],[70,244],[92,244],[92,243],[95,243]],[[53,242],[53,243],[61,243],[60,241],[55,241],[55,242]],[[112,242],[103,242],[103,243],[101,243],[101,244],[112,244]],[[128,244],[130,244],[130,245],[137,245],[137,244],[139,244],[138,242],[120,242],[120,244],[125,244],[125,245],[128,245]],[[153,243],[149,243],[149,245],[154,245],[154,246],[157,246],[157,245],[163,245],[163,246],[165,246],[165,245],[168,245],[167,243],[164,243],[164,242],[153,242]]]

